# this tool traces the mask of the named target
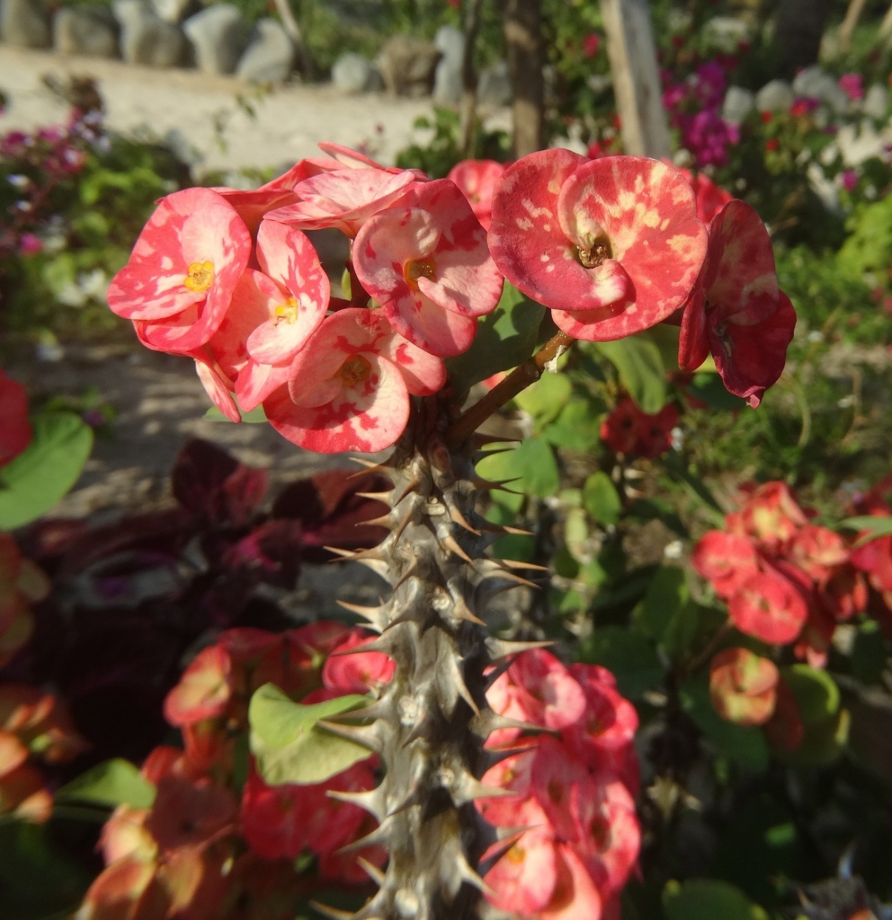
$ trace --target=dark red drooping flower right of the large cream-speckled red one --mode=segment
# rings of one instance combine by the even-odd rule
[[[729,201],[710,224],[706,261],[682,316],[678,366],[695,370],[712,352],[728,392],[755,408],[782,374],[795,324],[765,225],[746,202]]]

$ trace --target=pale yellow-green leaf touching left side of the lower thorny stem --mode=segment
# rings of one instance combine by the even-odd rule
[[[371,756],[363,745],[317,725],[367,702],[354,694],[302,706],[273,684],[263,684],[251,696],[248,710],[251,753],[263,779],[272,786],[321,783]]]

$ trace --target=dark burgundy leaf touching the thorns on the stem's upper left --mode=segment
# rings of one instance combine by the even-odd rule
[[[360,493],[390,489],[388,479],[374,473],[324,470],[287,486],[272,505],[272,517],[299,523],[304,558],[327,562],[333,556],[324,546],[359,549],[376,546],[387,536],[386,528],[365,522],[387,514],[388,506]]]

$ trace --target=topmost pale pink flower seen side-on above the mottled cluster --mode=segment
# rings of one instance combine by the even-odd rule
[[[267,217],[303,230],[337,227],[347,236],[356,236],[369,217],[396,201],[417,181],[406,170],[389,173],[382,169],[339,169],[320,173],[295,186],[299,201]]]

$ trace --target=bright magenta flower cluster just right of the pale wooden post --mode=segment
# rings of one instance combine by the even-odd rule
[[[663,105],[670,125],[680,133],[698,167],[724,166],[728,147],[740,140],[737,126],[724,121],[721,110],[727,77],[717,61],[702,63],[687,79],[673,83],[664,74]]]

